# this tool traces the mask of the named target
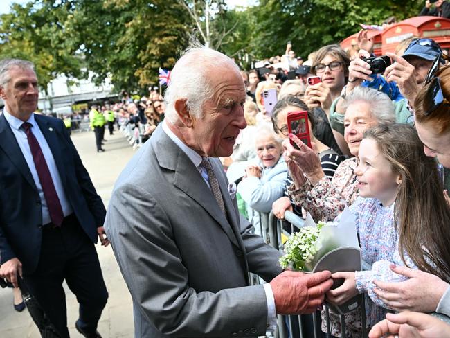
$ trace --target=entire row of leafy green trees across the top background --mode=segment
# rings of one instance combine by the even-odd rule
[[[255,58],[284,53],[287,41],[307,56],[356,33],[361,23],[401,20],[422,6],[418,0],[260,0],[229,9],[225,0],[30,0],[1,15],[0,57],[35,62],[44,89],[59,74],[82,78],[92,71],[97,84],[110,77],[117,91],[143,90],[157,82],[159,67],[172,68],[191,35],[201,40],[208,31],[210,46],[248,69]]]

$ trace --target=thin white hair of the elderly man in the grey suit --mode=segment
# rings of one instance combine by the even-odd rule
[[[230,57],[191,40],[190,46],[175,64],[168,89],[165,90],[165,117],[170,123],[176,123],[179,119],[174,106],[179,99],[186,100],[191,114],[201,118],[201,107],[214,94],[208,73],[213,69],[229,71],[230,67],[240,71]]]

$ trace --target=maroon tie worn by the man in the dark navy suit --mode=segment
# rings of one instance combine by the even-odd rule
[[[47,202],[51,222],[56,226],[61,226],[62,220],[64,219],[64,213],[62,212],[60,199],[56,193],[50,170],[48,170],[47,162],[45,161],[44,154],[42,154],[42,149],[39,146],[35,135],[31,132],[31,127],[33,127],[33,125],[24,122],[21,127],[24,128],[28,144],[30,145],[31,154],[33,155],[33,161],[35,162],[37,176],[39,176],[39,181],[41,181],[42,191],[44,192],[44,197]]]

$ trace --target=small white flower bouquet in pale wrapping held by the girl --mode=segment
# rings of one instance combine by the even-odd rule
[[[320,272],[328,270],[354,272],[361,270],[361,249],[354,217],[348,208],[336,218],[335,222],[318,222],[307,215],[305,224],[292,233],[285,242],[285,255],[280,258],[284,269],[301,272]],[[336,280],[332,288],[343,280]],[[356,308],[359,298],[336,307],[337,312],[345,313]]]

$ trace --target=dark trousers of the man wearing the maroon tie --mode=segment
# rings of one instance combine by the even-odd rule
[[[69,338],[64,280],[80,304],[80,327],[95,332],[108,292],[97,251],[74,215],[64,218],[61,228],[44,226],[37,269],[33,274],[24,275],[30,294],[35,296],[60,336]]]

